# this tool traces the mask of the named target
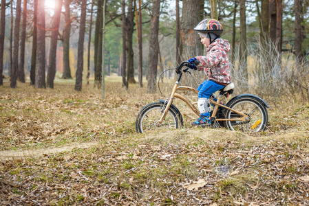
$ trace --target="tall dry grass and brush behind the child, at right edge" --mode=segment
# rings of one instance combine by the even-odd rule
[[[259,40],[256,41],[259,43]],[[269,101],[282,100],[289,104],[308,102],[309,69],[308,60],[295,60],[290,52],[278,53],[277,45],[271,41],[258,49],[248,47],[248,59],[239,62],[236,54],[235,64],[231,65],[232,80],[242,87],[240,93],[255,93]],[[245,66],[245,67],[244,67]],[[248,79],[243,69],[248,71]]]

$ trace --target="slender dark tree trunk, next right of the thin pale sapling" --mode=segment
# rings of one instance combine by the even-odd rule
[[[126,52],[126,35],[127,34],[127,23],[125,20],[125,0],[122,0],[122,86],[128,89],[126,77],[127,67],[127,52]]]

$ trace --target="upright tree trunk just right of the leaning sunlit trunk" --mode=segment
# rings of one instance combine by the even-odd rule
[[[72,0],[64,0],[65,5],[65,28],[63,30],[63,79],[72,79],[70,69],[70,34],[71,17],[70,4]]]

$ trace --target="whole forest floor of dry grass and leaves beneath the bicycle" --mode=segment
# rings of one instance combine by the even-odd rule
[[[0,87],[0,205],[308,205],[309,104],[268,99],[255,135],[192,128],[135,131],[162,98],[107,78],[74,91]]]

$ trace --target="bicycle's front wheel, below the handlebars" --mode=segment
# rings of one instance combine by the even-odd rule
[[[164,111],[163,106],[162,102],[154,102],[142,108],[136,117],[136,132],[145,133],[146,131],[178,128],[181,119],[180,113],[171,107],[162,124],[158,123]]]

